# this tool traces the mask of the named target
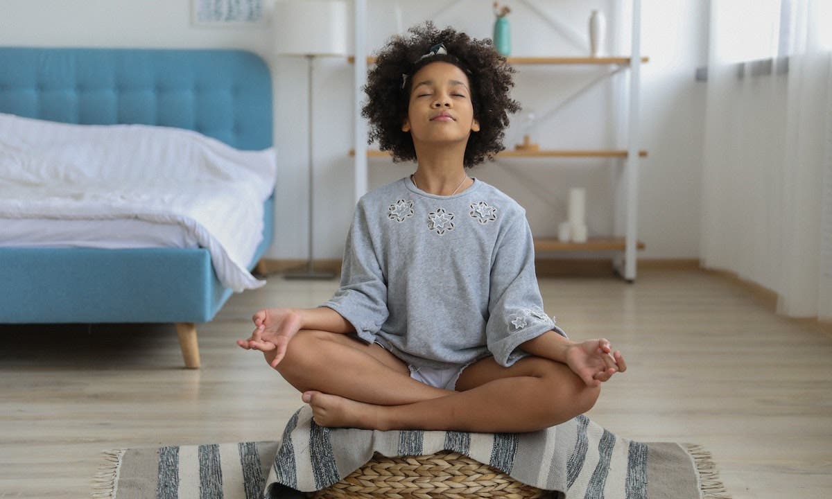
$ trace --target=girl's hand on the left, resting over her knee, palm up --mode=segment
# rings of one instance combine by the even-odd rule
[[[237,344],[246,350],[260,350],[272,368],[286,355],[286,348],[295,333],[300,331],[300,314],[292,309],[264,309],[251,318],[255,330],[248,339]]]

